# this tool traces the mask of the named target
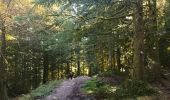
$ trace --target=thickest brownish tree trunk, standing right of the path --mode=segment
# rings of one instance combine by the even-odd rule
[[[143,80],[144,75],[144,22],[143,22],[143,0],[136,0],[135,18],[134,18],[134,57],[133,70],[131,77],[133,79]]]

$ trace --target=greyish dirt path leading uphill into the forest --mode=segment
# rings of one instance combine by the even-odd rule
[[[40,100],[82,100],[82,96],[79,95],[80,87],[89,79],[90,77],[81,76],[66,80],[58,88],[54,89],[51,95]]]

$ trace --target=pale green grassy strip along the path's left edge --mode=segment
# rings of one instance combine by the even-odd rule
[[[62,80],[55,80],[55,81],[50,81],[47,84],[43,84],[43,85],[39,86],[37,89],[33,90],[31,92],[31,96],[33,98],[35,98],[35,97],[41,97],[41,96],[48,95],[61,82],[62,82]]]

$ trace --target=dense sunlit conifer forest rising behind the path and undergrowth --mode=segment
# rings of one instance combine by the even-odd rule
[[[160,82],[170,72],[169,0],[0,0],[0,100],[108,70]]]

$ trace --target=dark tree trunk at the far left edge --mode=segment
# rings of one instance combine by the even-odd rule
[[[0,50],[0,100],[8,100],[7,89],[6,89],[6,30],[5,30],[5,22],[2,23],[1,27],[1,50]]]

